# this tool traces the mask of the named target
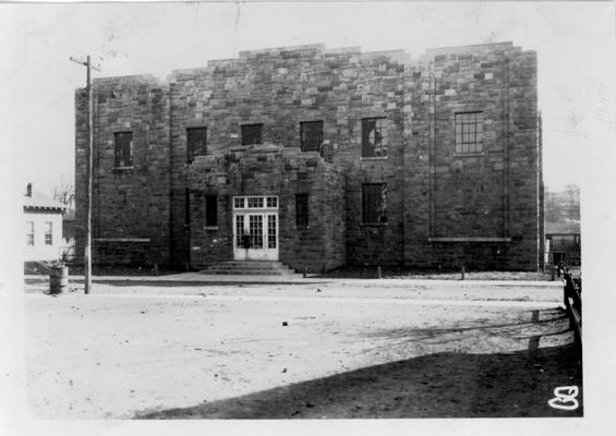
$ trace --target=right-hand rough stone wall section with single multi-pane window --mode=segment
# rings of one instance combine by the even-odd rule
[[[535,53],[509,43],[433,50],[406,84],[406,262],[535,269]],[[483,114],[483,152],[458,155],[455,114],[468,111]]]

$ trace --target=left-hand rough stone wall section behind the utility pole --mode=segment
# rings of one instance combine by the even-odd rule
[[[168,264],[168,89],[152,76],[94,81],[93,262]],[[86,220],[87,98],[76,93],[76,250]],[[133,133],[133,166],[116,168],[116,132]]]

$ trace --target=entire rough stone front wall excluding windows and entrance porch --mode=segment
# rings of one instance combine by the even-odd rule
[[[168,87],[152,77],[116,77],[95,81],[95,235],[150,239],[143,250],[131,245],[135,241],[105,241],[109,259],[209,262],[190,250],[198,216],[190,215],[188,202],[188,128],[207,128],[208,154],[216,154],[241,144],[244,123],[263,123],[264,142],[293,148],[300,122],[322,120],[325,161],[345,174],[345,201],[335,205],[345,205],[336,214],[346,216],[345,232],[336,237],[346,239],[346,257],[336,252],[331,265],[339,258],[426,267],[536,265],[536,58],[509,43],[431,50],[416,62],[400,51],[323,46],[249,51],[177,71]],[[484,112],[484,152],[456,156],[455,113],[467,110]],[[384,117],[387,158],[361,157],[366,117]],[[77,90],[77,226],[85,222],[86,121],[85,95]],[[113,132],[125,130],[134,134],[135,167],[113,171]],[[280,183],[293,174],[283,168]],[[277,194],[256,177],[245,180],[255,182],[243,192]],[[386,226],[362,223],[363,183],[387,184]],[[311,196],[311,210],[333,205],[326,194]],[[78,253],[82,242],[77,235]]]

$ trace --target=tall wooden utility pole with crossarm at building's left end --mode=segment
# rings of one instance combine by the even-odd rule
[[[100,66],[93,65],[89,55],[86,60],[75,59],[71,57],[71,61],[85,65],[87,69],[86,90],[87,90],[87,165],[86,165],[86,185],[87,185],[87,218],[86,218],[86,237],[84,250],[84,275],[85,275],[85,293],[89,293],[92,288],[92,167],[93,167],[93,98],[92,98],[92,77],[90,70],[100,71]]]

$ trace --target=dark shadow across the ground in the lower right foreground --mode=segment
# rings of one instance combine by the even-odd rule
[[[572,343],[515,353],[437,353],[136,419],[366,419],[582,416],[582,372]],[[560,386],[580,407],[553,409]]]

